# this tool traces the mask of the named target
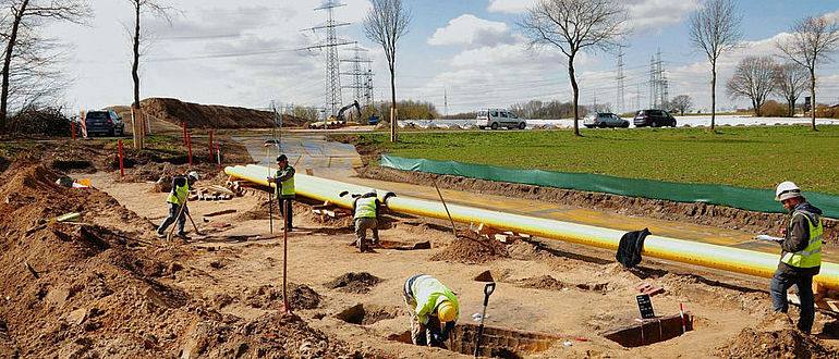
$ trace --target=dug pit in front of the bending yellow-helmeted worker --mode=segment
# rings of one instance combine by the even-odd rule
[[[458,323],[451,338],[446,341],[443,346],[451,351],[473,355],[477,331],[477,324]],[[410,331],[391,334],[388,339],[412,344]],[[530,354],[547,350],[559,339],[559,336],[547,333],[484,325],[479,355],[491,358],[523,358]]]

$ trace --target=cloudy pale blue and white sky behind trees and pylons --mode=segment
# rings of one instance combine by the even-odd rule
[[[325,33],[307,30],[326,22],[323,1],[312,0],[159,0],[172,5],[170,20],[146,14],[147,41],[141,64],[141,97],[267,108],[281,104],[324,107],[325,54],[301,50],[321,41]],[[570,101],[567,60],[557,49],[530,49],[516,23],[536,0],[406,0],[412,12],[409,33],[397,50],[397,97],[428,101],[441,113],[507,108],[528,100]],[[629,10],[632,35],[624,48],[624,107],[619,109],[616,53],[586,52],[575,62],[582,104],[608,103],[612,111],[649,104],[650,57],[660,51],[670,97],[689,95],[696,109],[710,104],[710,65],[689,40],[689,17],[698,0],[616,0]],[[336,20],[351,23],[338,36],[357,41],[373,60],[376,100],[390,98],[390,75],[381,47],[364,36],[367,0],[342,0]],[[88,0],[93,16],[84,25],[53,23],[47,35],[64,44],[63,72],[72,81],[70,108],[84,110],[132,101],[133,22],[126,0]],[[807,15],[839,18],[839,1],[741,0],[743,41],[720,60],[718,109],[749,107],[725,91],[737,62],[750,54],[777,55],[775,42],[793,22]],[[349,47],[339,49],[350,58]],[[839,53],[832,59],[839,60]],[[778,60],[781,60],[778,58]],[[342,72],[350,71],[341,63]],[[839,103],[839,64],[817,71],[817,99]],[[342,76],[350,85],[351,77]],[[446,96],[443,96],[443,94]],[[352,101],[352,90],[343,101]],[[803,98],[802,98],[803,100]]]

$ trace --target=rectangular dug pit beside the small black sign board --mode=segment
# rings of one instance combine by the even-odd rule
[[[623,347],[633,348],[654,343],[665,342],[693,331],[694,318],[684,314],[684,327],[682,317],[679,314],[649,319],[643,323],[633,323],[600,332],[605,338],[616,342]]]

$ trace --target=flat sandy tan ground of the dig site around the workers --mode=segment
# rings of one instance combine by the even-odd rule
[[[117,183],[105,173],[89,177],[96,187],[138,215],[154,223],[159,223],[166,215],[166,194],[153,193],[153,183]],[[185,245],[184,250],[191,256],[183,259],[182,264],[193,270],[179,272],[161,282],[211,302],[224,314],[254,319],[276,312],[277,300],[254,305],[247,298],[254,293],[258,297],[260,288],[263,292],[281,288],[282,240],[269,233],[266,219],[236,220],[238,215],[266,199],[250,195],[229,201],[191,203],[199,228],[210,230],[217,223],[231,223],[232,226],[207,237],[195,237]],[[239,212],[214,216],[211,222],[203,220],[203,214],[224,209]],[[473,278],[489,270],[498,288],[489,300],[487,324],[561,337],[546,351],[525,352],[528,357],[728,357],[729,354],[718,348],[729,347],[729,339],[744,329],[758,325],[770,313],[766,293],[768,280],[648,259],[640,270],[627,271],[615,262],[612,252],[538,239],[516,242],[508,246],[509,257],[493,258],[479,264],[433,261],[430,257],[442,253],[452,242],[447,223],[402,215],[393,218],[391,228],[381,231],[382,240],[406,246],[429,240],[431,249],[377,249],[376,253],[358,253],[349,245],[354,235],[346,226],[348,221],[321,223],[306,212],[304,206],[295,210],[299,228],[289,236],[288,281],[311,287],[319,294],[320,302],[314,309],[301,310],[294,309],[292,302],[292,309],[312,327],[353,347],[381,350],[396,357],[452,356],[445,349],[414,347],[387,338],[409,329],[401,288],[406,277],[417,273],[433,274],[457,293],[461,302],[460,321],[472,322],[473,313],[481,311],[484,286]],[[279,221],[275,221],[275,228],[280,228]],[[366,294],[346,293],[326,285],[351,272],[368,272],[382,282],[372,286]],[[561,284],[552,288],[534,288],[533,281],[531,287],[525,284],[524,280],[544,275]],[[666,290],[653,297],[658,314],[678,314],[679,304],[684,304],[696,318],[695,331],[631,349],[601,337],[598,333],[604,330],[633,324],[633,319],[639,317],[635,287],[644,282]],[[384,318],[393,318],[358,325],[336,317],[357,304],[380,309],[388,314]],[[797,310],[791,311],[797,319]],[[832,332],[835,323],[835,319],[819,313],[814,326],[814,333],[822,337],[822,345],[834,350],[839,348],[839,341],[835,339],[839,333]],[[563,345],[564,341],[570,345]]]

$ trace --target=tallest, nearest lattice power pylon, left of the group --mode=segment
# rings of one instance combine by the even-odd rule
[[[336,28],[339,26],[346,26],[350,23],[338,23],[335,21],[335,8],[345,7],[336,0],[329,0],[324,3],[323,7],[315,9],[315,11],[326,10],[327,21],[324,24],[308,28],[308,30],[326,29],[326,40],[315,44],[313,46],[303,48],[308,49],[324,49],[326,50],[326,113],[327,116],[338,113],[338,109],[341,108],[343,102],[341,98],[341,66],[338,58],[338,47],[344,45],[355,44],[355,41],[344,40],[338,38],[336,35]]]

